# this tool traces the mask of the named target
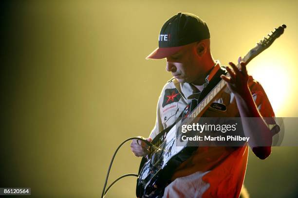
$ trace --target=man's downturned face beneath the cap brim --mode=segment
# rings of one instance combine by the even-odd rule
[[[187,45],[179,52],[168,56],[167,71],[180,83],[193,83],[204,78],[202,61],[196,53],[195,45]]]

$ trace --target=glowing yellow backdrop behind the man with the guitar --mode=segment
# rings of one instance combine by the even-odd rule
[[[263,36],[284,35],[250,62],[277,117],[297,117],[298,4],[273,1],[14,1],[8,12],[12,56],[7,67],[2,171],[7,186],[36,197],[100,197],[115,148],[147,137],[162,87],[165,60],[146,60],[163,23],[177,12],[208,24],[211,50],[236,62]],[[9,89],[8,89],[9,88]],[[298,195],[297,147],[274,147],[261,161],[251,152],[245,185],[252,198]],[[129,143],[117,154],[109,183],[137,173]],[[131,198],[136,178],[107,198]],[[32,197],[33,197],[32,196]]]

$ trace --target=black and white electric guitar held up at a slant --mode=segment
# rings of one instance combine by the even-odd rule
[[[246,64],[254,57],[267,49],[280,35],[283,34],[286,25],[281,25],[275,28],[274,32],[265,36],[257,46],[251,49],[243,58],[242,61]],[[239,61],[240,62],[240,61]],[[240,68],[240,64],[237,65]],[[226,75],[228,76],[228,74]],[[186,146],[187,141],[182,146],[176,146],[176,129],[184,122],[184,118],[198,118],[203,115],[205,110],[226,87],[226,82],[220,80],[205,98],[196,104],[188,104],[183,112],[182,118],[172,126],[160,132],[153,140],[154,146],[149,147],[149,155],[143,157],[136,185],[136,196],[138,198],[156,198],[162,196],[165,187],[169,184],[170,178],[175,169],[186,159],[197,147]],[[191,120],[191,119],[190,119]],[[179,145],[182,143],[180,142]]]

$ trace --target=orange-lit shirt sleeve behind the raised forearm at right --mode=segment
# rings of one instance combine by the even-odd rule
[[[264,89],[262,88],[261,84],[258,81],[253,80],[251,76],[248,85],[261,116],[270,128],[272,136],[274,136],[279,132],[279,125],[276,121],[275,113]]]

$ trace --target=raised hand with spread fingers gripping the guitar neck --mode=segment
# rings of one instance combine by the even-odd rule
[[[227,82],[227,87],[234,93],[236,96],[245,96],[249,92],[247,85],[248,74],[246,70],[246,63],[240,62],[241,57],[238,59],[238,63],[241,65],[241,70],[239,70],[236,65],[232,62],[229,62],[231,67],[226,67],[226,71],[230,74],[230,77],[221,75],[221,78]]]

